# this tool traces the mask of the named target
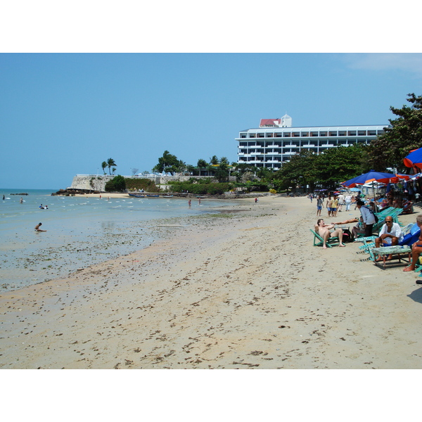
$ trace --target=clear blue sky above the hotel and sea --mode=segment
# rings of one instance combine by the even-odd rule
[[[1,53],[0,187],[66,188],[108,158],[149,171],[165,150],[232,162],[261,118],[388,124],[411,92],[421,53]]]

